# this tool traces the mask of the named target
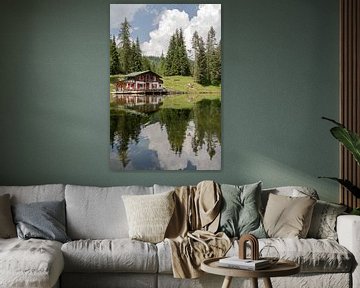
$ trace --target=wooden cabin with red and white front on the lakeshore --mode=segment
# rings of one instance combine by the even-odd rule
[[[116,84],[116,91],[119,93],[142,93],[166,91],[162,86],[161,76],[150,71],[133,72],[124,76]]]

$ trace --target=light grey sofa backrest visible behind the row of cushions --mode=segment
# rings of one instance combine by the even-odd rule
[[[67,233],[71,239],[128,238],[123,195],[149,195],[173,190],[174,186],[154,185],[94,187],[47,184],[34,186],[0,186],[0,195],[10,194],[11,203],[66,201]],[[263,189],[262,210],[265,211],[270,193],[319,199],[312,188],[301,186]]]

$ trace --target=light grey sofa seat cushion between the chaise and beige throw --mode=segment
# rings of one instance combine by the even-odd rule
[[[122,239],[77,240],[61,248],[66,272],[156,273],[156,246]]]

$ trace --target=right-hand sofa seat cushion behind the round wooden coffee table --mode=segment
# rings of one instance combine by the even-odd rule
[[[259,249],[274,246],[280,258],[295,261],[302,273],[350,272],[354,266],[353,255],[338,242],[330,239],[267,238],[259,239]],[[157,244],[159,273],[171,274],[171,248],[167,241]],[[235,241],[227,256],[238,255]],[[248,251],[250,256],[250,251]]]

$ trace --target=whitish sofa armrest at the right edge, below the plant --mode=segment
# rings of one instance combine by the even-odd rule
[[[355,257],[352,287],[360,287],[360,216],[341,215],[336,224],[339,243]]]

